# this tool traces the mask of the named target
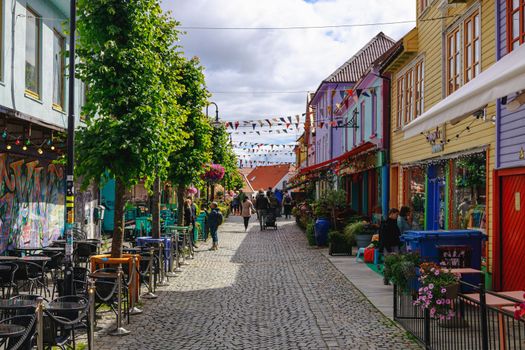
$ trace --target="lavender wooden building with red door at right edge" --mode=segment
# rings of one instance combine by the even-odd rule
[[[497,0],[496,55],[525,61],[525,1]],[[522,73],[525,79],[525,70]],[[519,88],[519,90],[518,90]],[[521,268],[525,241],[525,94],[524,86],[498,100],[494,195],[494,282],[497,289],[525,288]]]

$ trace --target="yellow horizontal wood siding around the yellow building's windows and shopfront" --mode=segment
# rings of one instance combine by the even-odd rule
[[[433,105],[441,101],[445,97],[444,93],[444,78],[445,65],[443,62],[444,35],[450,28],[459,25],[456,18],[446,18],[445,20],[428,20],[431,18],[439,18],[442,16],[462,16],[472,9],[472,6],[479,5],[480,19],[481,19],[481,70],[487,69],[496,61],[495,49],[495,2],[492,0],[483,1],[468,1],[466,4],[445,5],[445,10],[439,8],[440,1],[434,1],[429,8],[418,18],[418,35],[419,35],[419,57],[424,57],[425,62],[425,96],[424,96],[424,110],[428,110]],[[419,13],[419,12],[418,12]],[[422,21],[422,19],[424,21]],[[447,154],[453,154],[464,150],[475,149],[479,147],[487,148],[488,167],[487,167],[487,198],[486,198],[486,213],[487,213],[487,233],[489,235],[488,249],[489,262],[491,266],[492,259],[492,198],[493,198],[493,169],[495,167],[495,141],[496,131],[491,117],[496,114],[495,103],[487,106],[486,116],[488,122],[483,120],[476,120],[474,117],[467,117],[462,122],[451,125],[447,123],[444,127],[446,138],[450,142],[444,146],[444,150],[440,153],[433,154],[431,146],[428,144],[425,136],[418,135],[410,139],[404,139],[402,130],[395,130],[396,115],[397,115],[397,81],[398,74],[403,67],[410,65],[414,60],[407,62],[404,66],[396,70],[391,70],[393,73],[392,79],[392,113],[391,113],[391,163],[392,164],[410,164],[413,162],[433,158],[446,157]],[[472,123],[472,124],[471,124]],[[466,127],[470,125],[470,130],[466,131]],[[460,134],[459,138],[456,135]],[[402,177],[398,178],[398,200],[401,204],[404,203],[404,186]]]

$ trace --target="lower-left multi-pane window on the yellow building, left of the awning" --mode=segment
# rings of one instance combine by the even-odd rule
[[[417,61],[397,80],[397,128],[407,125],[423,113],[424,63]]]

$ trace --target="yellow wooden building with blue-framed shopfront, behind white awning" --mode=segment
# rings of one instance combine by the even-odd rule
[[[494,1],[418,0],[416,28],[383,69],[392,86],[390,207],[411,207],[421,229],[484,230],[489,259],[495,101],[452,119],[424,117],[495,60]]]

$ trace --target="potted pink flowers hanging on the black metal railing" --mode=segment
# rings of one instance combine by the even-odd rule
[[[430,311],[430,317],[440,321],[454,317],[450,307],[459,292],[459,276],[435,263],[420,265],[420,287],[414,305]]]

